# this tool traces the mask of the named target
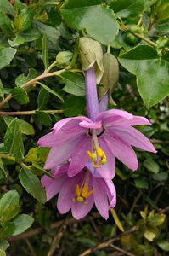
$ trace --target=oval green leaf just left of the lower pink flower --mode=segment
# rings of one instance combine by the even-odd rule
[[[33,174],[30,170],[22,168],[20,170],[20,183],[25,190],[37,199],[37,201],[44,203],[46,201],[45,191],[38,177]]]

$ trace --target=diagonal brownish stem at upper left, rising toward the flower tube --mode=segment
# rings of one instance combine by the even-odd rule
[[[42,79],[46,79],[48,77],[54,77],[54,76],[59,76],[61,73],[64,73],[65,71],[70,71],[70,72],[82,72],[82,70],[76,68],[76,69],[68,69],[68,68],[64,68],[61,69],[59,71],[55,71],[55,72],[51,72],[51,73],[47,73],[47,70],[44,71],[41,75],[37,76],[37,78],[35,79],[31,79],[30,81],[26,82],[25,84],[22,84],[20,87],[23,89],[26,89],[27,87],[29,87],[31,84],[35,84],[37,83],[37,81],[42,80]],[[9,94],[2,102],[0,102],[0,109],[3,108],[3,106],[12,98],[13,96],[11,94]]]

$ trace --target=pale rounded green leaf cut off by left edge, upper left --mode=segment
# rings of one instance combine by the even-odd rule
[[[14,59],[16,54],[16,49],[11,47],[1,48],[0,49],[0,69],[6,67]]]

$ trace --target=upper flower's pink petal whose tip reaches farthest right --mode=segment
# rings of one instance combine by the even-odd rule
[[[108,129],[108,132],[118,137],[121,137],[125,143],[134,147],[141,148],[143,150],[156,153],[154,146],[149,142],[149,139],[145,137],[140,131],[131,126],[114,126]]]

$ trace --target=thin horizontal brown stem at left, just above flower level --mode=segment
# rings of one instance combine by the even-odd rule
[[[16,111],[16,112],[5,112],[5,111],[0,111],[0,115],[31,115],[31,114],[36,114],[36,112],[39,111],[37,110],[30,110],[30,111]],[[42,110],[44,113],[63,113],[64,110]]]

